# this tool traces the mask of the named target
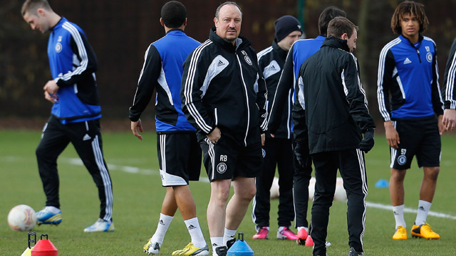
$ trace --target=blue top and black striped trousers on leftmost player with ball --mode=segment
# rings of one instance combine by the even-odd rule
[[[62,17],[51,28],[48,58],[52,78],[59,89],[58,100],[53,104],[51,118],[36,149],[46,206],[60,207],[56,159],[71,142],[98,187],[100,218],[111,220],[113,191],[103,159],[95,52],[84,31]]]

